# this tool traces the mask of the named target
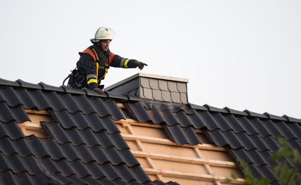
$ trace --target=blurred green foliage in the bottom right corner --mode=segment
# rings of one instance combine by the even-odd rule
[[[289,147],[288,143],[284,138],[279,138],[278,142],[280,144],[280,149],[273,154],[270,159],[277,161],[278,164],[273,168],[273,171],[278,178],[278,181],[283,185],[301,185],[301,173],[296,171],[295,168],[290,167],[287,163],[287,158],[291,164],[295,166],[301,166],[301,154],[297,149],[292,149]],[[244,169],[243,174],[245,181],[249,185],[268,185],[269,179],[267,178],[258,178],[253,179],[251,177],[251,169],[248,164],[241,160],[237,159],[238,164]],[[235,180],[236,177],[234,174],[231,175],[231,178],[226,179],[226,183],[230,183],[232,180]]]

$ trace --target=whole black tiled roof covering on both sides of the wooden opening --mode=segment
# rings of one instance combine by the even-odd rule
[[[125,118],[115,102],[125,104],[127,117],[161,124],[180,145],[202,143],[194,128],[202,129],[234,159],[246,161],[252,178],[266,177],[272,184],[280,184],[272,171],[277,161],[269,159],[280,148],[277,138],[285,138],[291,148],[301,152],[301,119],[286,115],[0,79],[0,157],[4,161],[0,181],[162,184],[149,180],[112,122]],[[16,123],[29,120],[24,108],[51,112],[55,121],[42,123],[50,138],[24,137],[16,129]],[[291,167],[301,171],[299,166]]]

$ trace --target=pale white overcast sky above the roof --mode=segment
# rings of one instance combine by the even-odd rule
[[[110,49],[188,78],[190,103],[301,118],[300,0],[1,0],[0,78],[60,86],[99,27]]]

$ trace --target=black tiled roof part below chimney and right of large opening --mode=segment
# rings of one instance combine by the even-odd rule
[[[207,138],[228,149],[234,159],[246,161],[253,178],[266,177],[279,184],[272,168],[278,161],[269,157],[280,149],[277,138],[285,138],[289,146],[301,152],[301,120],[268,113],[255,114],[209,105],[185,105],[141,100],[126,103],[128,112],[140,122],[161,124],[177,144],[202,143],[193,128],[202,129]],[[285,159],[287,160],[287,159]],[[288,164],[297,171],[301,166]]]

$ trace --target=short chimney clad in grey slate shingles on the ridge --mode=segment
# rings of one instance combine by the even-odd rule
[[[188,79],[137,73],[104,90],[142,99],[188,104]]]

